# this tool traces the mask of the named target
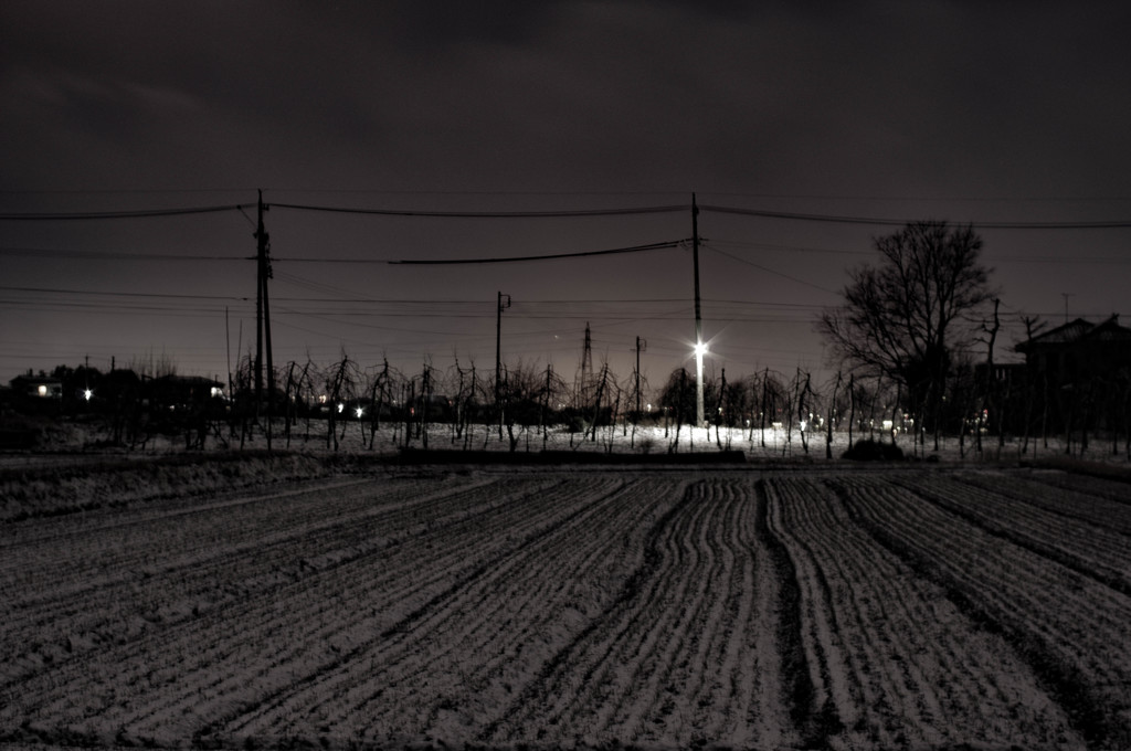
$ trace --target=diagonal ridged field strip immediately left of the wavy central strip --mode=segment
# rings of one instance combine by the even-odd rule
[[[633,506],[634,486],[590,489],[587,497],[596,502],[578,503],[561,524],[501,551],[389,629],[385,639],[314,676],[301,691],[273,697],[256,713],[231,723],[226,732],[285,735],[309,732],[317,719],[338,728],[356,727],[366,735],[394,730],[423,733],[438,708],[469,722],[460,710],[480,700],[472,685],[476,668],[493,651],[507,649],[517,622],[551,614],[546,599],[552,590],[545,586],[547,578],[554,578],[550,571],[582,575],[572,556],[585,560],[588,546],[607,542],[602,535],[586,538],[586,529],[629,520],[621,515]],[[442,665],[448,667],[438,670]]]

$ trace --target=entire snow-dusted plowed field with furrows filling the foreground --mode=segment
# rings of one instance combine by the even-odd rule
[[[6,506],[0,743],[1131,748],[1131,484],[288,461]]]

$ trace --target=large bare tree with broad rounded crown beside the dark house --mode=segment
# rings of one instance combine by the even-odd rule
[[[851,364],[904,387],[916,418],[932,422],[938,449],[951,353],[972,343],[967,317],[992,296],[982,239],[969,226],[929,221],[874,242],[881,264],[851,271],[845,303],[824,311],[817,329]]]

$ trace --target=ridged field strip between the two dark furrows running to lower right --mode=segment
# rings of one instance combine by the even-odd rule
[[[881,478],[840,486],[879,541],[1001,629],[1089,743],[1131,743],[1131,599]]]

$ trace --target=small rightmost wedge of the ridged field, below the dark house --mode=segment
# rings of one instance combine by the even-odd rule
[[[1050,474],[965,473],[957,475],[956,480],[988,493],[1025,501],[1051,513],[1086,523],[1090,529],[1115,532],[1131,537],[1131,484],[1094,481],[1079,475],[1068,482],[1053,482]],[[1116,495],[1117,491],[1123,491],[1123,495]]]

